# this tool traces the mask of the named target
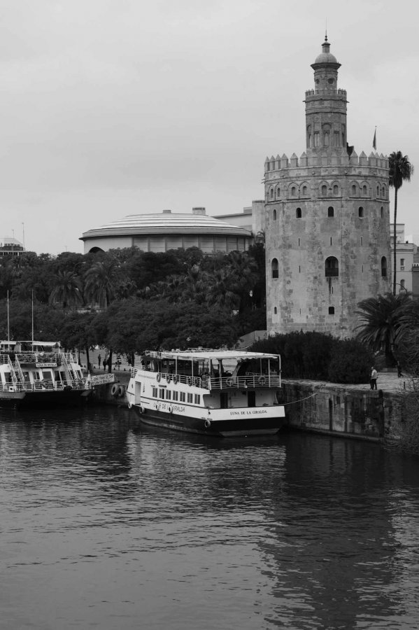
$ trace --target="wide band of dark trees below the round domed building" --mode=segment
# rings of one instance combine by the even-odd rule
[[[266,328],[264,248],[204,255],[137,248],[0,260],[0,337],[114,352],[232,347]],[[9,331],[7,299],[9,298]]]

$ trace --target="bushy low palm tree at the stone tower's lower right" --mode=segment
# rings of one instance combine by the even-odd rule
[[[402,316],[410,303],[410,293],[392,295],[389,292],[378,297],[368,297],[357,304],[355,312],[360,318],[357,339],[374,351],[384,349],[388,365],[395,365],[393,349],[402,325]]]

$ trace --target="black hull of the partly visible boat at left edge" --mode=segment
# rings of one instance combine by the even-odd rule
[[[61,391],[2,391],[0,407],[34,409],[49,407],[76,407],[87,400],[90,390],[71,389]]]

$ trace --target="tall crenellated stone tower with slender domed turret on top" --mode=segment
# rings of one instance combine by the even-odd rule
[[[353,335],[357,302],[390,290],[388,158],[347,143],[341,64],[322,52],[306,92],[306,151],[265,162],[267,330]]]

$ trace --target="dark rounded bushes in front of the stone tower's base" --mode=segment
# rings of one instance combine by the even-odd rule
[[[336,339],[322,332],[290,332],[260,339],[252,349],[280,354],[282,375],[289,379],[332,383],[367,383],[373,355],[356,339]]]

